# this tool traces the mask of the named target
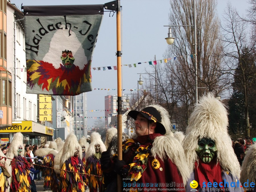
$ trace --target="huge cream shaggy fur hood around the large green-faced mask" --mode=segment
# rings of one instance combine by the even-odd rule
[[[183,141],[190,172],[193,172],[195,161],[198,160],[195,151],[198,139],[206,137],[215,141],[217,161],[222,168],[239,178],[240,165],[232,148],[227,127],[228,113],[224,105],[211,93],[203,96],[190,115]]]

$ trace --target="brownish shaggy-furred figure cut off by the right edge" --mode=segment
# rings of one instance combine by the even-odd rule
[[[249,147],[241,168],[240,182],[245,191],[256,192],[256,144]]]

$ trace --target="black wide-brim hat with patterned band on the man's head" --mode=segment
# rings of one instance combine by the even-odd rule
[[[156,108],[146,107],[141,111],[132,110],[128,113],[128,115],[136,120],[139,113],[141,113],[141,115],[143,115],[143,117],[146,117],[148,120],[153,120],[154,122],[156,122],[155,133],[160,133],[162,135],[166,133],[164,125],[160,123],[162,120],[161,114],[158,112],[158,110],[156,110]]]

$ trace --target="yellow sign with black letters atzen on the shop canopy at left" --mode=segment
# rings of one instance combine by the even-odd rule
[[[0,133],[16,133],[16,132],[32,132],[32,121],[20,121],[21,123],[13,123],[13,126],[1,129]]]

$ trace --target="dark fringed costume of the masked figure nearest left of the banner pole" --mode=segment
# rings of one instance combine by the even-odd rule
[[[97,175],[96,176],[88,176],[87,182],[90,192],[97,192],[97,189],[102,186],[102,169],[100,165],[100,157],[101,153],[97,153],[96,156],[90,156],[86,161],[86,173],[88,175]]]

